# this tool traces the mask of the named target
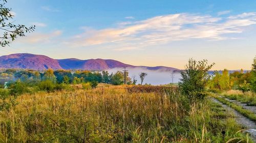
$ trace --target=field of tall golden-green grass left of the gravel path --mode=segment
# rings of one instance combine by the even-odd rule
[[[172,90],[99,84],[17,102],[0,112],[0,142],[251,142],[220,105],[188,105]]]

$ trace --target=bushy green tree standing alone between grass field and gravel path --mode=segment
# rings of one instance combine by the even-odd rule
[[[182,95],[187,96],[191,103],[203,100],[207,95],[206,84],[211,77],[208,70],[214,65],[215,63],[208,65],[207,60],[197,62],[194,59],[189,59],[185,70],[181,71],[182,78],[179,82],[179,88]]]

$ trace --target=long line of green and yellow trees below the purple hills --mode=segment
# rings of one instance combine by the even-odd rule
[[[25,83],[34,84],[40,81],[51,81],[52,83],[66,83],[66,84],[79,84],[86,82],[108,83],[113,85],[124,84],[136,84],[136,76],[129,77],[129,72],[125,70],[117,71],[116,73],[109,73],[108,71],[92,72],[87,70],[53,70],[48,69],[45,71],[36,70],[17,70],[17,69],[5,69],[0,72],[0,84],[4,85],[5,82],[21,81]],[[140,75],[141,84],[146,73]]]

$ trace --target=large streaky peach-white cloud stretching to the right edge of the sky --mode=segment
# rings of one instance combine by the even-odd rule
[[[71,46],[104,44],[114,50],[132,50],[189,39],[224,40],[232,39],[225,34],[242,33],[244,27],[252,24],[256,24],[254,13],[226,18],[188,13],[170,14],[114,28],[87,30],[74,36]]]

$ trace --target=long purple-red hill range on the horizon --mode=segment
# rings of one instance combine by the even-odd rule
[[[45,55],[37,55],[30,53],[15,53],[10,55],[0,56],[0,68],[19,68],[19,69],[81,69],[81,70],[108,70],[114,68],[143,68],[147,70],[160,70],[160,71],[174,71],[179,70],[172,67],[146,67],[146,66],[133,66],[121,63],[115,60],[103,59],[61,59],[55,60]]]

